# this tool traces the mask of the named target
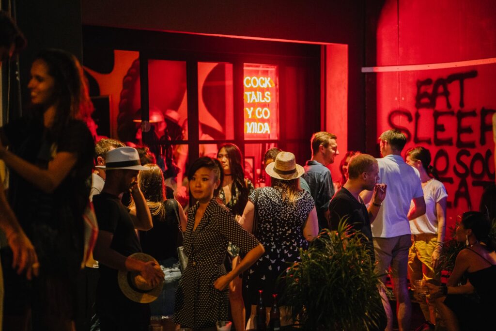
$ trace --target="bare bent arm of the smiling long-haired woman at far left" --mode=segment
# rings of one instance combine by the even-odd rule
[[[54,192],[77,162],[76,153],[59,152],[48,163],[48,169],[41,169],[6,150],[1,144],[0,158],[10,170],[15,171],[45,193]]]

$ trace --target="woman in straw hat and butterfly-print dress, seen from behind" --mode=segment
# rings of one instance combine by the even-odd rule
[[[308,241],[318,234],[315,203],[310,194],[300,188],[298,178],[305,170],[296,164],[295,155],[280,152],[275,162],[267,165],[265,172],[272,177],[272,186],[257,189],[255,237],[265,247],[265,253],[248,272],[248,300],[252,305],[252,315],[258,290],[263,290],[265,305],[271,306],[272,294],[280,295],[284,290],[277,285],[277,277],[286,270],[288,263],[300,259],[300,248],[306,249]],[[255,195],[256,191],[249,196],[240,220],[248,231],[253,229]],[[281,313],[283,315],[284,310]]]

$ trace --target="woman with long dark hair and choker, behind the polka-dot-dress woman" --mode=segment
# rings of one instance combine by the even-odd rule
[[[222,188],[219,190],[219,199],[231,210],[238,220],[245,210],[248,195],[255,189],[249,179],[245,179],[243,170],[243,155],[238,146],[232,143],[222,144],[217,152],[217,159],[224,171]],[[232,257],[232,266],[240,263],[238,249],[230,245],[228,251]],[[245,302],[243,300],[243,279],[237,277],[229,284],[229,302],[231,304],[231,315],[233,316],[236,330],[245,327]]]

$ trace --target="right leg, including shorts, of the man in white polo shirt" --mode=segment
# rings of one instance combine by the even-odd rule
[[[407,269],[408,251],[412,245],[410,235],[397,238],[397,244],[392,251],[391,275],[393,280],[393,293],[396,297],[396,316],[400,331],[409,331],[412,317],[412,303],[408,294]]]

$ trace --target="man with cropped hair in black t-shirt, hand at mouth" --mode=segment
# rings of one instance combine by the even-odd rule
[[[376,184],[379,180],[377,160],[369,154],[357,154],[348,163],[348,181],[332,198],[329,204],[329,220],[331,229],[336,230],[339,222],[345,219],[355,230],[361,231],[369,240],[366,247],[375,261],[372,229],[382,200],[386,197],[386,185]],[[363,190],[373,190],[372,203],[369,208],[360,198]]]

